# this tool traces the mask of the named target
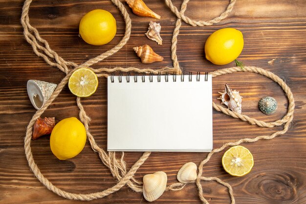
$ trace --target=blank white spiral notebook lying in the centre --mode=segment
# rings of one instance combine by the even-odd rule
[[[212,77],[108,77],[108,151],[209,152]]]

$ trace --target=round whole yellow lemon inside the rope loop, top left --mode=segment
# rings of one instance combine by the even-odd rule
[[[81,19],[79,33],[82,39],[91,45],[105,45],[116,35],[116,20],[106,10],[89,11]]]

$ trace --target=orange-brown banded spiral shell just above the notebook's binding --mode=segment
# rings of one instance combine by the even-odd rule
[[[133,48],[138,57],[140,57],[141,62],[145,64],[151,64],[153,62],[163,61],[163,57],[156,54],[149,45],[142,45]]]

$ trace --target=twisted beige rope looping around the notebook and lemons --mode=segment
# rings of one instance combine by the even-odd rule
[[[32,155],[32,151],[31,151],[31,136],[32,136],[32,130],[33,130],[33,125],[35,123],[35,121],[37,120],[38,117],[40,117],[44,111],[47,109],[47,107],[53,102],[53,100],[58,96],[58,94],[63,90],[63,88],[65,87],[65,85],[68,82],[69,77],[71,76],[71,74],[73,73],[74,70],[76,70],[77,68],[81,68],[81,67],[89,67],[93,64],[96,64],[100,61],[102,61],[103,59],[109,57],[110,55],[116,53],[120,48],[122,48],[127,41],[130,38],[131,35],[131,19],[129,17],[129,14],[127,12],[127,10],[125,9],[124,5],[119,1],[119,0],[111,0],[112,3],[114,3],[118,9],[121,11],[125,22],[126,22],[126,32],[125,35],[123,37],[123,39],[120,41],[120,43],[118,45],[116,45],[115,47],[113,47],[112,49],[110,49],[109,51],[95,57],[92,58],[90,60],[88,60],[87,62],[83,63],[82,65],[78,66],[77,64],[73,63],[73,62],[68,62],[65,61],[63,58],[61,58],[55,51],[53,51],[49,44],[47,43],[47,41],[45,41],[43,38],[41,38],[41,36],[39,35],[39,32],[36,28],[34,28],[33,26],[31,26],[30,22],[29,22],[29,16],[28,16],[28,11],[29,11],[29,6],[32,2],[32,0],[25,0],[24,1],[24,5],[22,8],[22,18],[21,18],[21,23],[22,26],[24,28],[24,36],[26,41],[32,45],[34,52],[42,57],[45,62],[47,64],[49,64],[50,66],[54,66],[59,68],[60,70],[62,70],[63,72],[66,73],[66,76],[62,79],[62,81],[59,83],[59,85],[57,86],[57,88],[55,89],[55,91],[53,92],[53,94],[51,95],[51,97],[48,99],[48,101],[44,104],[44,106],[42,107],[41,110],[37,111],[32,119],[30,120],[28,126],[27,126],[27,130],[26,130],[26,136],[24,138],[24,148],[25,148],[25,155],[26,158],[28,160],[29,166],[31,168],[31,170],[33,171],[34,175],[38,178],[39,181],[41,181],[49,190],[53,191],[54,193],[67,198],[67,199],[74,199],[74,200],[92,200],[92,199],[97,199],[97,198],[102,198],[105,197],[115,191],[118,191],[121,187],[123,187],[124,185],[128,185],[131,189],[133,189],[136,192],[142,192],[142,182],[141,181],[137,181],[134,178],[134,174],[135,172],[138,170],[138,168],[143,164],[143,162],[145,162],[146,159],[148,159],[148,157],[150,156],[150,152],[145,152],[130,168],[130,170],[127,170],[127,166],[126,163],[123,159],[124,157],[124,153],[121,154],[120,159],[118,159],[116,157],[115,152],[108,152],[106,153],[102,148],[100,148],[97,143],[95,142],[93,136],[90,134],[89,131],[89,122],[90,122],[90,118],[87,116],[84,107],[81,104],[81,100],[79,97],[77,97],[77,105],[80,109],[80,113],[79,113],[79,117],[80,120],[83,122],[83,124],[85,125],[86,131],[87,131],[87,138],[88,141],[91,145],[91,148],[93,149],[93,151],[97,152],[101,161],[103,162],[103,164],[105,164],[109,170],[110,173],[112,174],[112,176],[114,178],[116,178],[118,180],[118,182],[112,186],[109,189],[103,190],[101,192],[96,192],[96,193],[90,193],[90,194],[75,194],[75,193],[69,193],[66,192],[65,190],[62,190],[56,186],[54,186],[50,181],[48,181],[44,175],[41,173],[40,169],[38,168],[38,166],[36,165],[34,159],[33,159],[33,155]],[[172,46],[171,46],[171,51],[172,51],[172,60],[173,60],[173,68],[160,68],[160,69],[140,69],[140,68],[97,68],[97,69],[92,69],[93,71],[95,71],[98,77],[107,77],[109,76],[109,72],[114,72],[114,71],[124,71],[124,72],[128,72],[128,71],[135,71],[135,72],[146,72],[146,73],[158,73],[159,71],[161,73],[165,73],[167,71],[173,71],[176,72],[177,74],[181,73],[181,69],[179,67],[179,63],[177,60],[177,55],[176,55],[176,45],[177,45],[177,36],[179,34],[179,28],[181,26],[181,21],[183,20],[186,23],[189,23],[193,26],[203,26],[203,25],[211,25],[213,23],[218,23],[219,21],[221,21],[222,19],[226,18],[227,15],[231,12],[231,10],[233,9],[233,6],[236,2],[236,0],[231,0],[230,4],[228,5],[228,7],[226,8],[226,10],[217,18],[208,21],[208,22],[204,22],[204,21],[194,21],[191,20],[190,18],[186,17],[184,15],[184,12],[187,8],[187,3],[189,0],[183,0],[183,3],[181,5],[181,10],[178,11],[177,8],[173,5],[171,0],[165,0],[166,4],[170,7],[170,9],[175,13],[175,15],[177,16],[177,21],[175,24],[175,29],[174,29],[174,33],[173,33],[173,39],[172,39]],[[73,68],[73,69],[71,69]],[[292,92],[290,91],[290,89],[288,88],[288,86],[284,83],[284,81],[282,79],[280,79],[278,76],[276,76],[275,74],[266,71],[262,68],[257,68],[257,67],[245,67],[244,70],[241,70],[239,67],[234,67],[234,68],[225,68],[225,69],[220,69],[220,70],[216,70],[214,72],[211,72],[210,74],[212,74],[213,77],[222,75],[222,74],[229,74],[229,73],[234,73],[234,72],[238,72],[238,71],[248,71],[248,72],[254,72],[254,73],[259,73],[262,74],[272,80],[274,80],[275,82],[277,82],[282,89],[284,90],[287,98],[288,98],[288,111],[286,113],[286,115],[280,119],[277,120],[275,122],[264,122],[264,121],[260,121],[257,120],[255,118],[251,118],[248,117],[247,115],[242,115],[239,113],[233,113],[231,111],[229,111],[228,109],[223,108],[220,105],[217,105],[215,103],[213,103],[213,107],[217,110],[220,111],[222,113],[225,113],[227,115],[230,115],[234,118],[240,118],[242,121],[246,121],[252,125],[258,125],[260,127],[274,127],[274,126],[280,126],[284,124],[284,129],[282,131],[278,131],[273,133],[270,136],[257,136],[255,138],[243,138],[240,139],[238,141],[235,142],[228,142],[224,145],[222,145],[220,148],[214,149],[212,152],[210,152],[206,159],[204,159],[198,166],[198,175],[197,175],[197,180],[196,181],[192,181],[189,183],[196,183],[197,188],[198,188],[198,193],[199,193],[199,198],[200,200],[205,203],[208,204],[207,200],[203,197],[202,193],[202,186],[200,181],[217,181],[220,184],[226,186],[228,188],[228,192],[231,198],[231,203],[235,204],[235,199],[233,196],[233,189],[230,186],[230,184],[221,181],[219,178],[216,177],[203,177],[202,176],[202,169],[203,169],[203,165],[209,161],[209,159],[212,157],[213,154],[218,153],[222,150],[224,150],[226,147],[230,147],[230,146],[235,146],[238,145],[240,143],[243,142],[255,142],[258,141],[260,139],[272,139],[275,136],[279,136],[284,134],[289,127],[290,122],[292,121],[293,118],[293,112],[294,112],[294,98],[292,95]],[[173,183],[169,186],[167,186],[166,190],[167,191],[177,191],[177,190],[181,190],[185,187],[186,183]]]

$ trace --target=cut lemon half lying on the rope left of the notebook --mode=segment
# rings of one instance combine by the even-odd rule
[[[79,68],[70,76],[68,87],[74,95],[88,97],[97,90],[98,77],[89,68]]]

